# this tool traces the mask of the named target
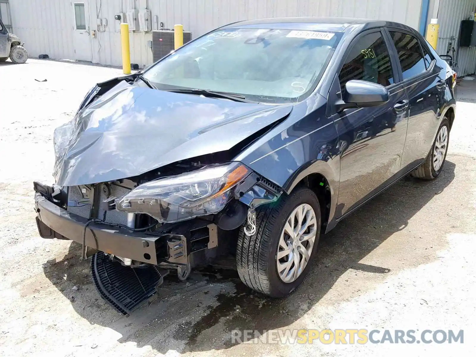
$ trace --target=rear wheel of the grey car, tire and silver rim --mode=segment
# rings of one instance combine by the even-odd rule
[[[443,169],[446,161],[446,153],[448,152],[449,144],[449,122],[448,119],[443,119],[436,134],[435,141],[428,153],[425,162],[414,169],[411,175],[416,178],[426,180],[433,180],[437,178]]]

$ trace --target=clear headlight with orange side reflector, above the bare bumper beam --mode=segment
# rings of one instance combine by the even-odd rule
[[[116,209],[147,213],[168,223],[217,213],[231,199],[231,188],[250,173],[245,165],[232,162],[160,178],[116,199]]]

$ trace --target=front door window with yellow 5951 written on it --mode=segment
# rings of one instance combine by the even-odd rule
[[[362,36],[347,53],[339,73],[341,91],[347,81],[352,79],[366,80],[385,87],[393,84],[392,64],[380,31]]]

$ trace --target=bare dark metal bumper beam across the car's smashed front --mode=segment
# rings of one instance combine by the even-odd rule
[[[131,232],[100,223],[89,223],[86,227],[88,219],[70,214],[38,192],[35,193],[35,208],[42,238],[71,239],[82,244],[86,228],[85,244],[88,247],[119,257],[158,264],[156,242],[160,236]],[[186,251],[184,253],[186,258]]]

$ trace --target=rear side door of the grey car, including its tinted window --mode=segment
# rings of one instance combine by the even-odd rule
[[[406,30],[387,30],[397,51],[410,105],[401,165],[403,170],[410,170],[426,158],[435,138],[445,81],[439,77],[440,68],[426,49],[426,43]]]

